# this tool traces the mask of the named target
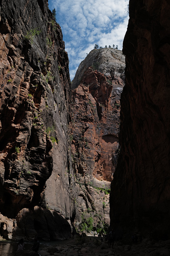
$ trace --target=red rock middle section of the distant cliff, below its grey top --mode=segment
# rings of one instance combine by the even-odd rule
[[[93,168],[91,164],[88,167],[89,173],[93,174],[98,180],[111,181],[114,172],[112,156],[113,150],[115,153],[118,146],[119,125],[116,123],[114,130],[108,131],[111,124],[110,120],[107,122],[107,114],[111,115],[116,110],[118,116],[119,111],[117,111],[117,106],[107,108],[108,95],[111,93],[112,86],[107,82],[104,74],[92,71],[89,68],[84,76],[84,85],[80,84],[73,92],[74,102],[76,103],[74,105],[74,136],[80,136],[78,140],[80,140],[79,144],[81,145],[77,145],[78,141],[73,138],[73,153],[81,154],[80,148],[82,148],[87,160],[92,161],[91,164],[93,164]],[[98,82],[101,84],[98,85]],[[90,85],[87,86],[87,84]]]

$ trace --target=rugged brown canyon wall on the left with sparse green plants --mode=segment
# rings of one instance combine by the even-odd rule
[[[41,206],[55,211],[51,221],[58,213],[73,220],[68,56],[46,0],[0,1],[0,83],[1,214],[14,219]],[[43,223],[31,218],[42,238]]]

